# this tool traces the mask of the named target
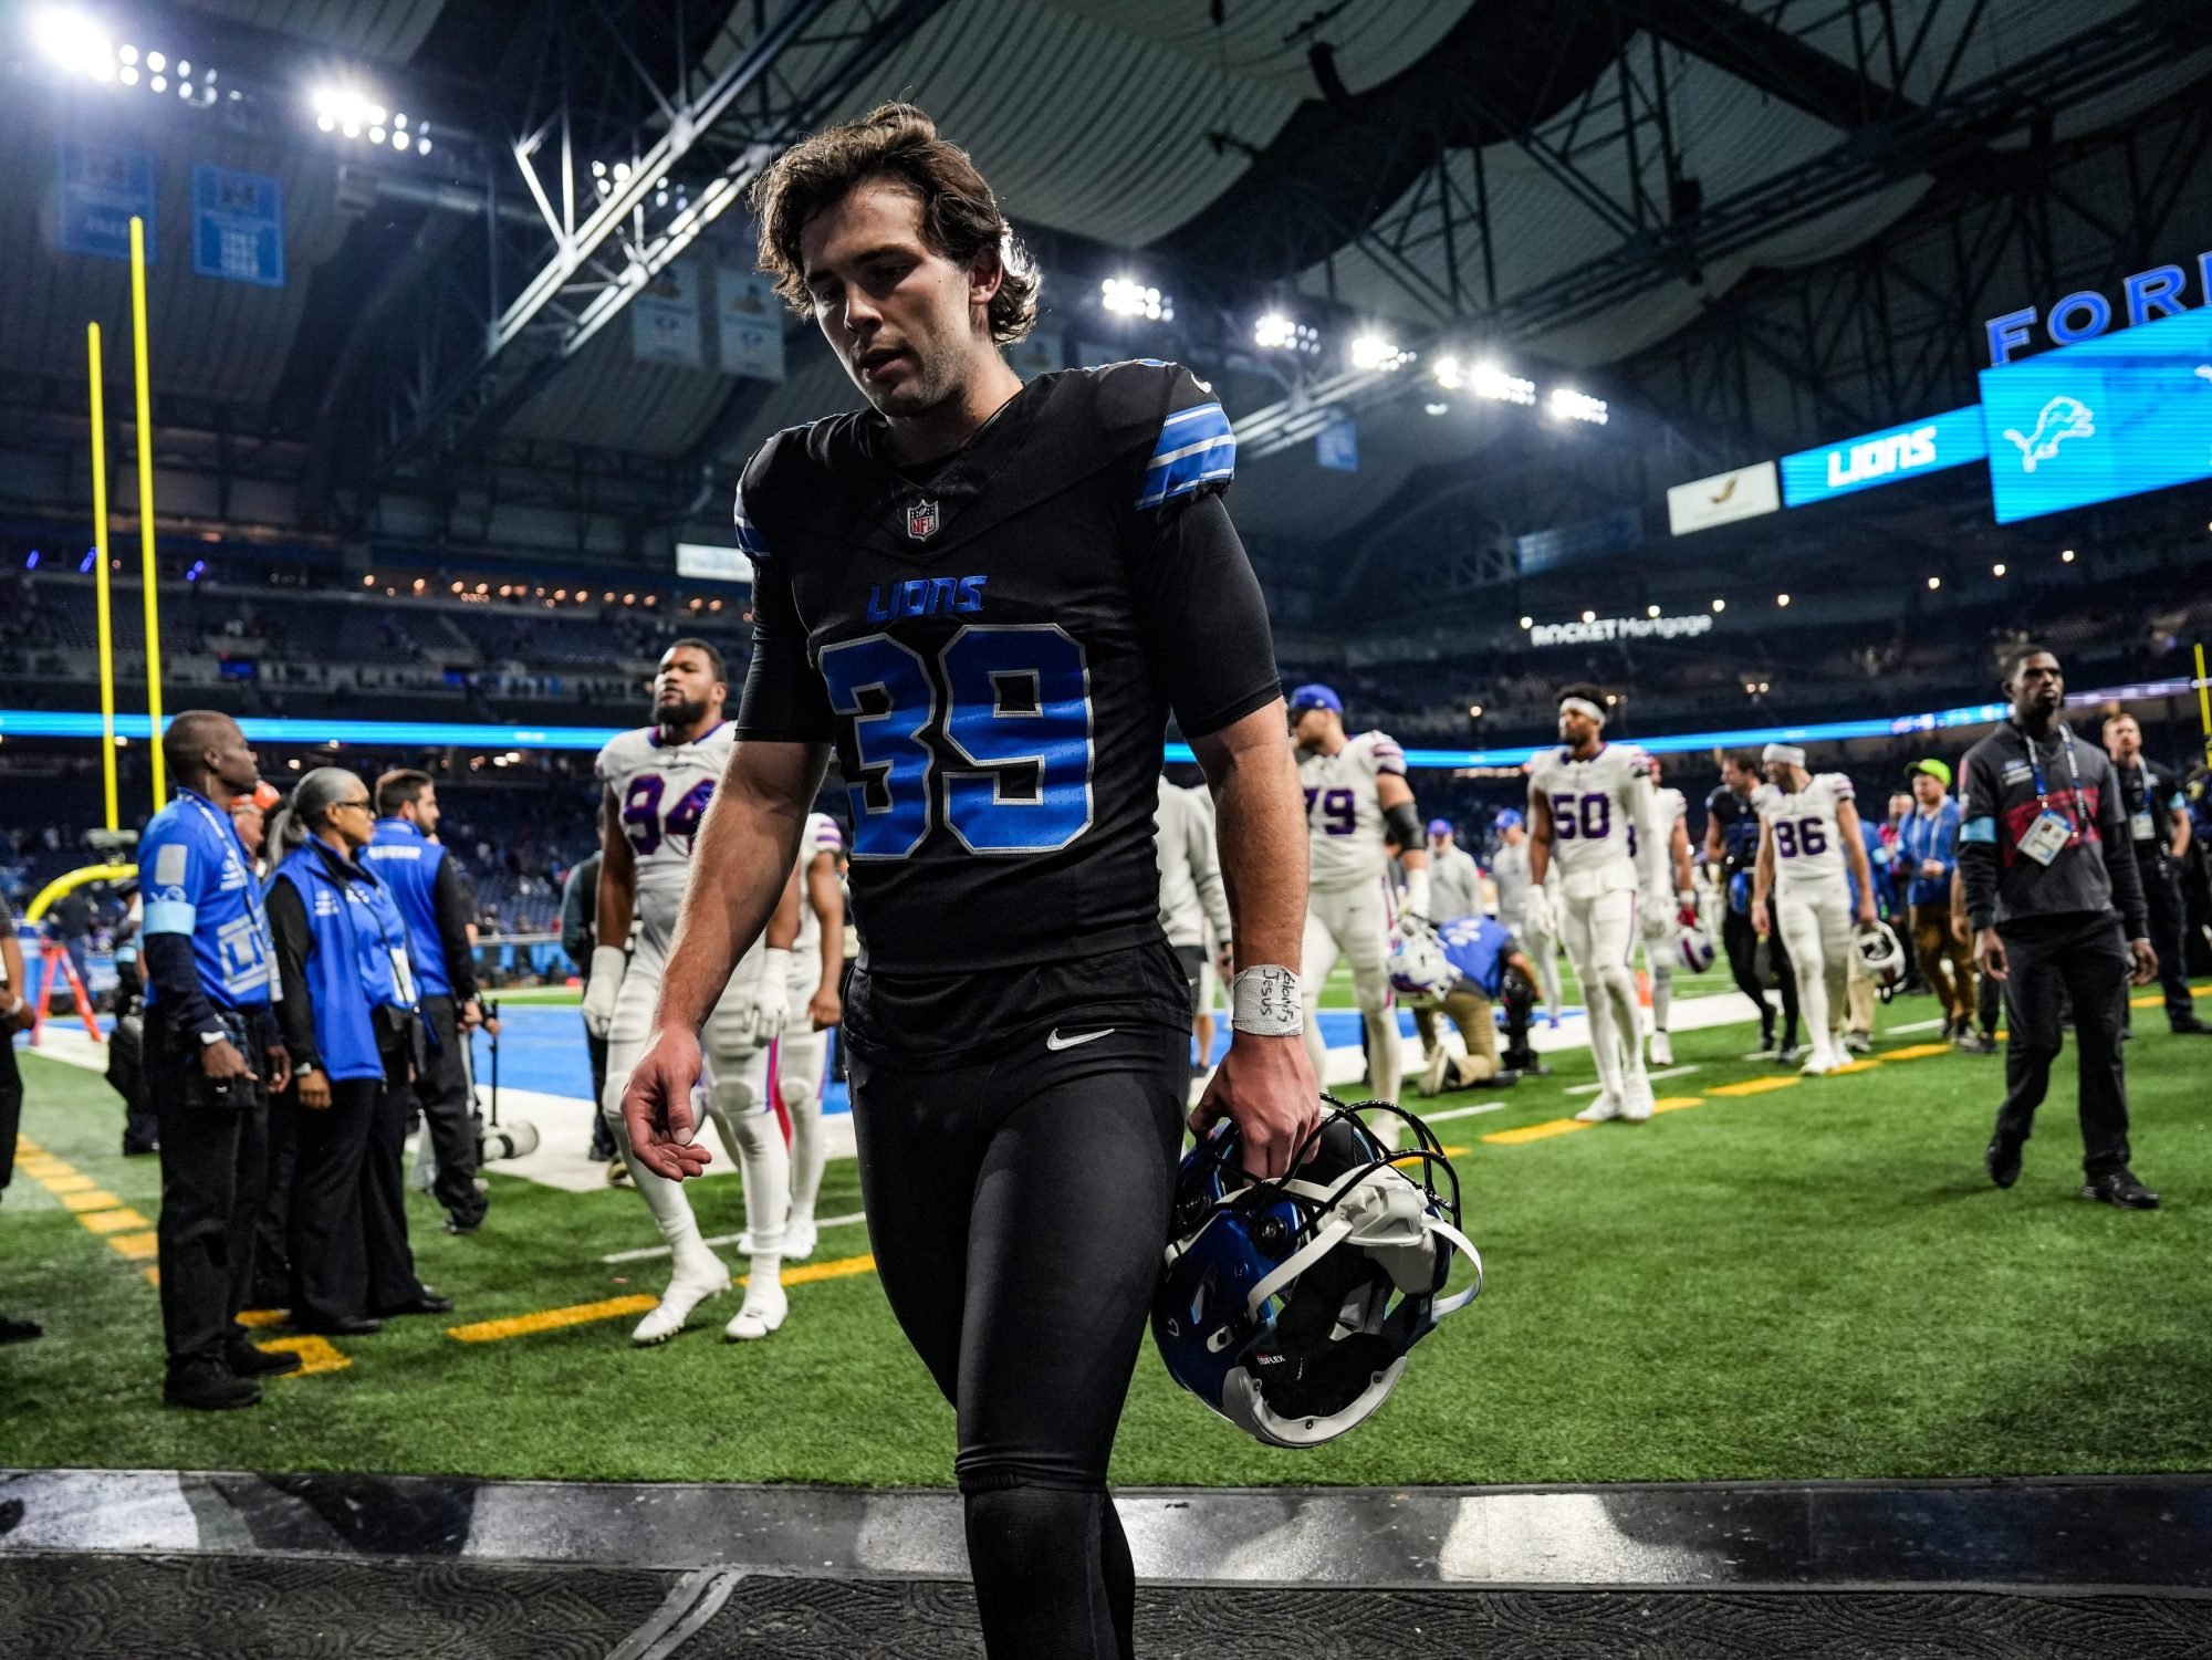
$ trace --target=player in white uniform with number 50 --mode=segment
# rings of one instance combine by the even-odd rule
[[[1652,1116],[1644,1069],[1644,1020],[1628,958],[1637,945],[1637,894],[1655,885],[1650,764],[1630,744],[1606,744],[1606,695],[1597,686],[1559,691],[1559,748],[1528,764],[1528,894],[1522,919],[1566,943],[1590,1011],[1597,1100],[1575,1113],[1586,1124]],[[1559,916],[1544,885],[1559,865]],[[1641,863],[1641,872],[1639,872]]]

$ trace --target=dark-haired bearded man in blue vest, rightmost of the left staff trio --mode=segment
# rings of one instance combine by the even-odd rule
[[[484,1195],[476,1191],[482,1124],[462,1045],[484,1025],[484,1005],[469,952],[469,894],[445,845],[431,841],[436,832],[438,784],[429,772],[400,768],[376,779],[376,837],[361,857],[392,890],[422,974],[416,992],[429,1054],[414,1093],[438,1155],[431,1193],[445,1206],[447,1233],[476,1233],[484,1226]]]

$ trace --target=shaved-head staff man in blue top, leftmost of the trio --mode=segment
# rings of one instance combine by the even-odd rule
[[[270,927],[230,803],[261,781],[246,733],[192,708],[161,735],[177,799],[139,837],[146,1093],[161,1124],[161,1335],[170,1405],[252,1405],[299,1357],[246,1341],[268,1091],[292,1080],[270,1014]]]

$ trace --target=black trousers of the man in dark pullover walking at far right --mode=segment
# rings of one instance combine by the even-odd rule
[[[2128,1014],[2128,947],[2110,912],[2008,923],[2004,941],[2004,1107],[1997,1135],[2026,1142],[2035,1109],[2051,1091],[2051,1062],[2066,1042],[2062,998],[2073,998],[2079,1049],[2081,1169],[2090,1175],[2128,1162],[2128,1080],[2119,1029]]]

